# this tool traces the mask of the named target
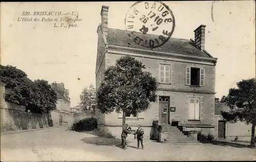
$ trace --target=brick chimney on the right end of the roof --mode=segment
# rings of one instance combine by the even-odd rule
[[[199,48],[201,51],[204,50],[204,41],[205,41],[205,25],[199,26],[195,32],[195,44],[196,47]]]

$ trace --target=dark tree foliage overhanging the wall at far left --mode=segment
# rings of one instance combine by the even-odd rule
[[[45,80],[27,78],[27,74],[14,66],[0,69],[1,81],[6,83],[5,100],[26,106],[32,112],[51,111],[56,108],[57,95]]]

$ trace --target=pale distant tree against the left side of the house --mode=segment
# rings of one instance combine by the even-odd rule
[[[95,112],[95,107],[96,107],[96,90],[93,87],[93,85],[91,84],[86,88],[83,88],[82,93],[80,95],[80,103],[79,103],[79,107],[82,111],[92,111]]]

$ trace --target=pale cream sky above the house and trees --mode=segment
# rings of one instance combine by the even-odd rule
[[[63,82],[71,106],[84,87],[95,85],[97,27],[101,6],[109,6],[109,28],[125,30],[124,18],[136,2],[1,3],[1,64],[16,66],[31,80]],[[164,2],[175,17],[172,37],[194,39],[206,25],[205,49],[218,58],[216,97],[228,94],[242,79],[255,77],[255,2]],[[54,28],[53,22],[17,21],[22,12],[75,12],[76,28]],[[42,16],[32,16],[41,18]]]

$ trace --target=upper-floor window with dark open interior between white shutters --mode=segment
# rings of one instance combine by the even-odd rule
[[[185,84],[204,86],[204,68],[186,67]]]

